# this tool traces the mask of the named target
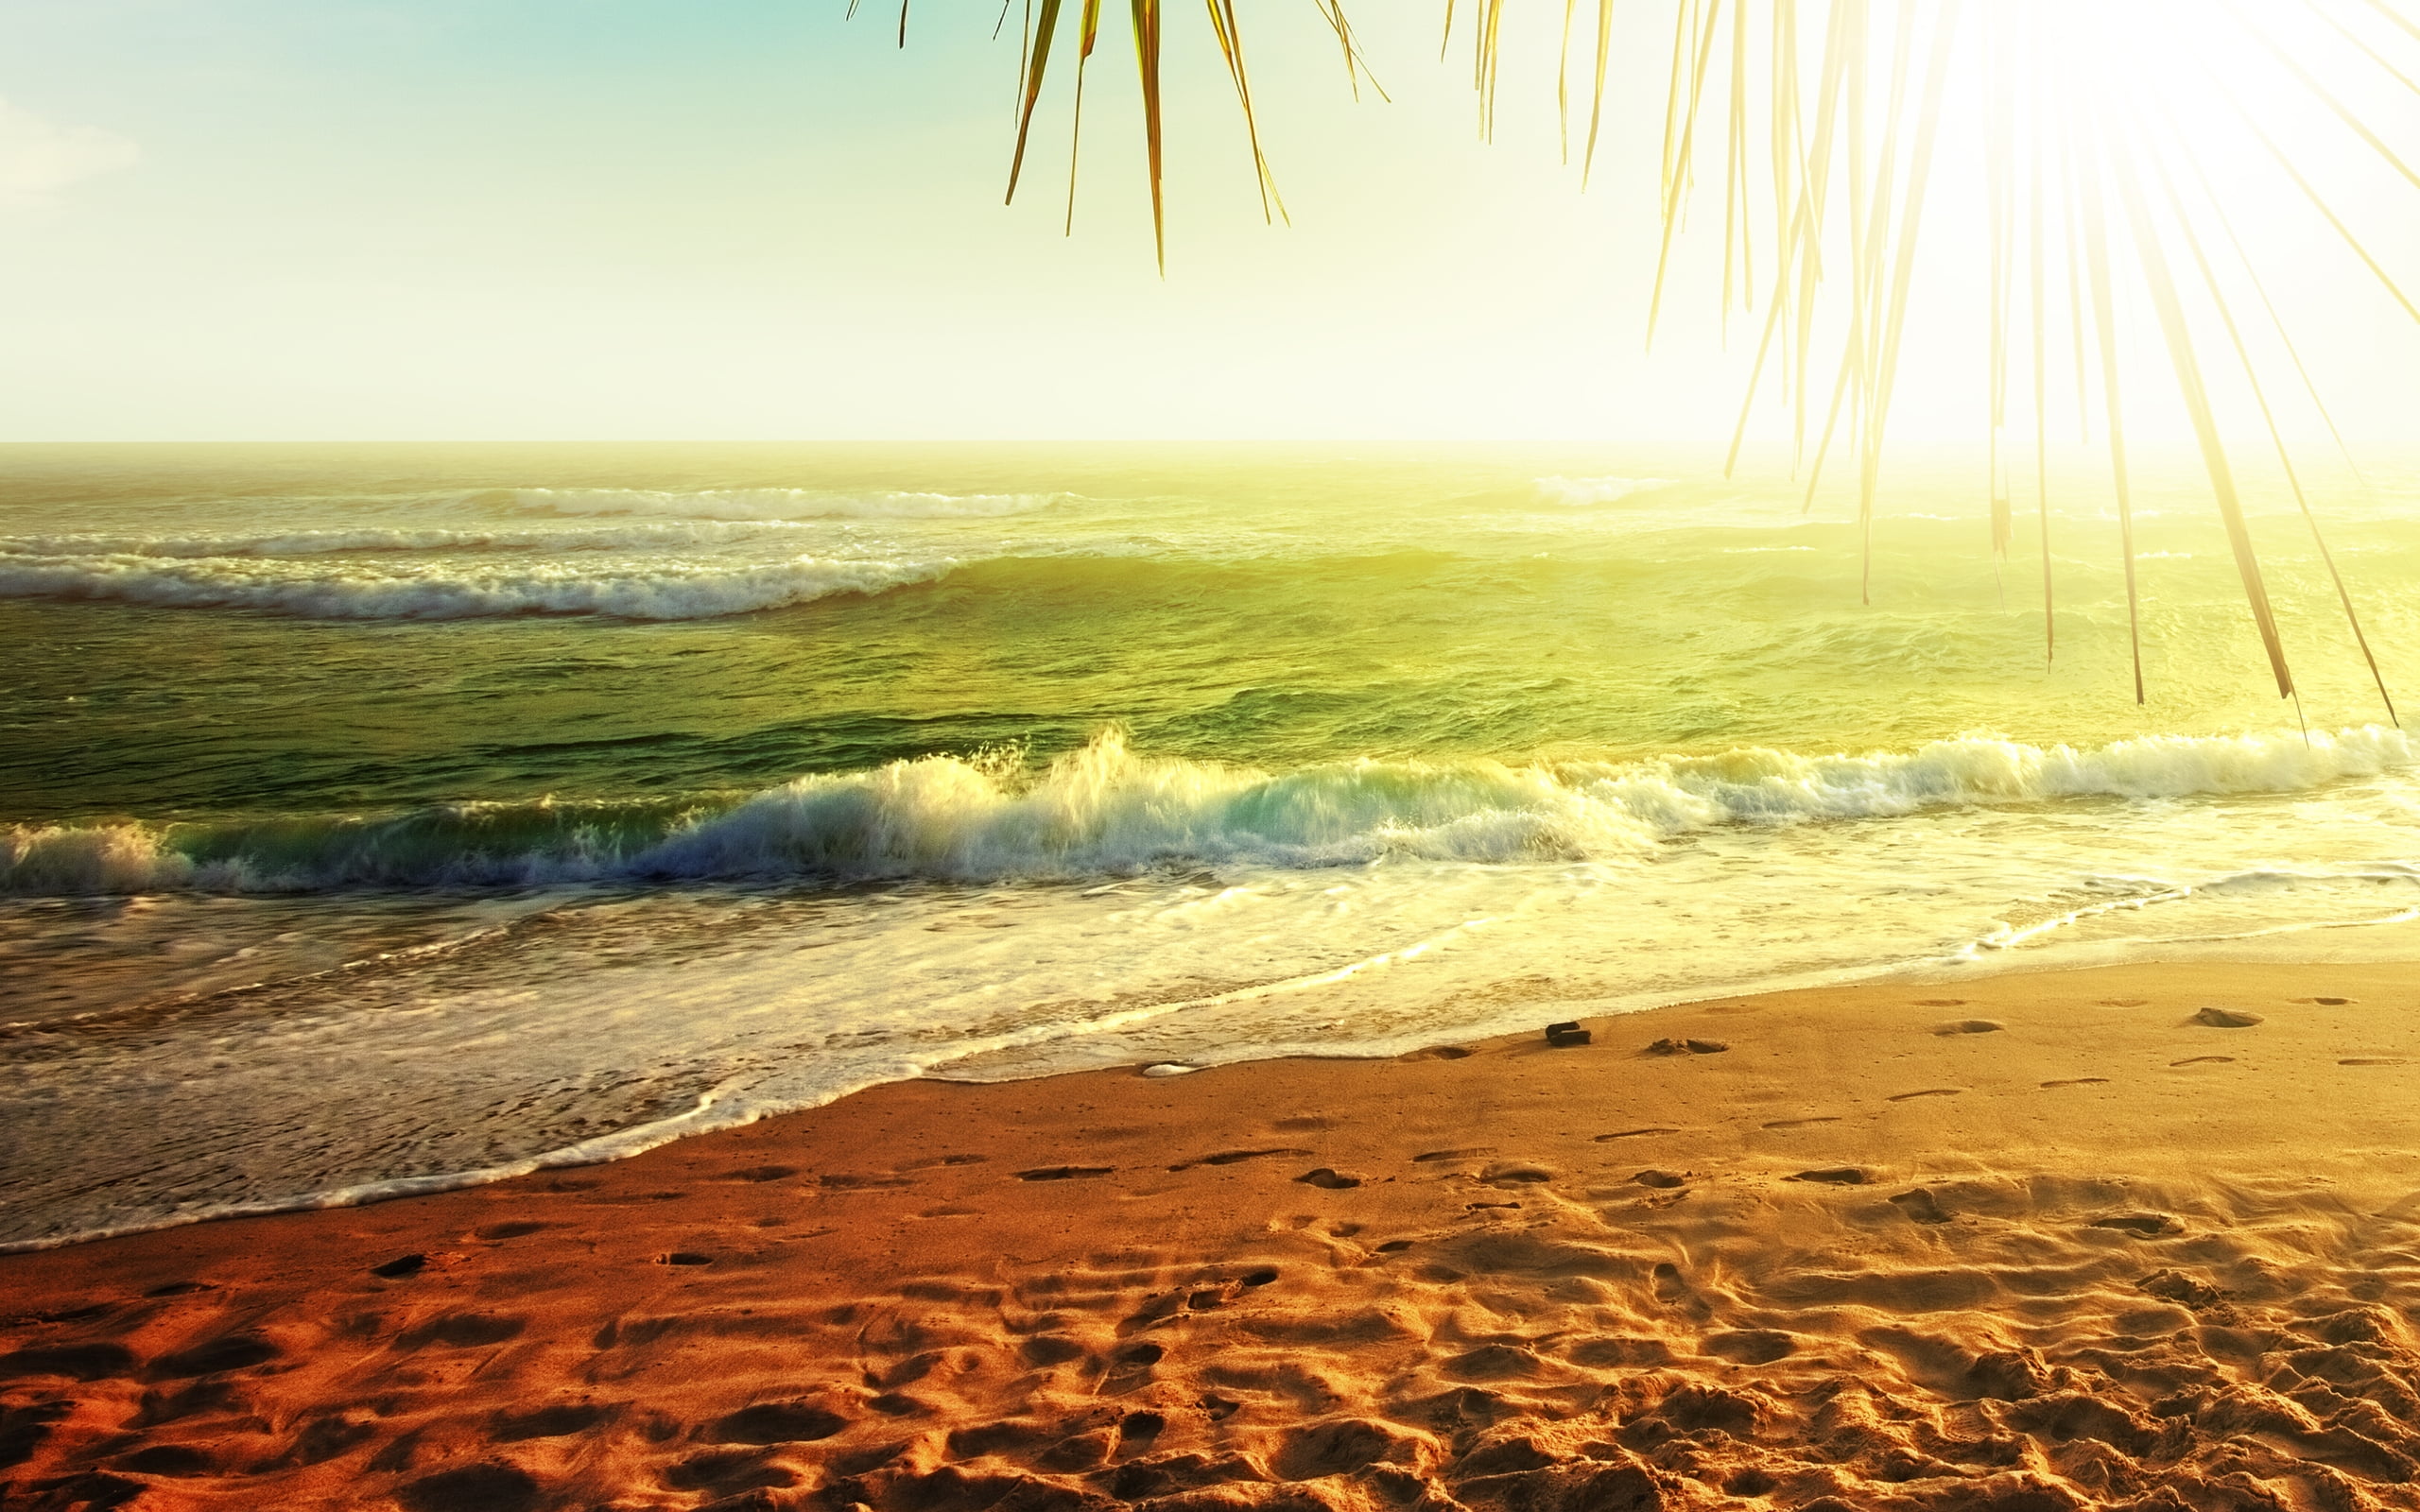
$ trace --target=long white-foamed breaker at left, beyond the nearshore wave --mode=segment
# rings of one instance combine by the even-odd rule
[[[261,610],[312,619],[479,619],[615,614],[709,619],[832,593],[878,593],[939,578],[949,564],[794,556],[762,564],[295,566],[240,556],[0,556],[0,598]]]

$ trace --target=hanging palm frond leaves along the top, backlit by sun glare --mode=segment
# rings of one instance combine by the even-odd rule
[[[859,0],[849,0],[854,15]],[[2314,375],[2304,365],[2284,317],[2246,249],[2226,210],[2226,194],[2209,179],[2195,155],[2195,143],[2166,121],[2166,135],[2154,121],[2168,97],[2190,94],[2219,102],[2272,162],[2282,181],[2328,225],[2367,273],[2420,322],[2415,302],[2386,261],[2364,242],[2345,210],[2318,189],[2294,152],[2270,131],[2270,102],[2280,90],[2314,102],[2362,155],[2384,165],[2420,191],[2415,167],[2386,135],[2379,121],[2352,104],[2335,75],[2299,56],[2277,31],[2280,7],[2246,7],[2241,0],[2209,0],[2195,10],[2195,22],[2226,27],[2241,41],[2238,53],[2265,60],[2263,106],[2243,99],[2241,80],[2224,77],[2209,56],[2190,46],[2171,56],[2125,58],[2130,80],[2159,87],[2115,87],[2110,77],[2074,80],[2079,58],[2115,56],[2127,44],[2130,7],[2062,7],[1982,0],[1665,0],[1670,5],[1670,51],[1658,51],[1665,73],[1663,143],[1655,152],[1655,273],[1646,293],[1646,336],[1653,346],[1675,261],[1682,256],[1684,220],[1699,194],[1701,157],[1716,145],[1723,152],[1721,194],[1721,295],[1718,312],[1728,331],[1730,312],[1759,314],[1759,336],[1740,419],[1725,452],[1725,474],[1738,467],[1757,399],[1779,385],[1791,414],[1791,460],[1805,477],[1803,508],[1813,508],[1834,450],[1856,472],[1856,518],[1861,547],[1861,595],[1873,598],[1873,532],[1880,503],[1880,479],[1888,452],[1890,416],[1900,387],[1909,310],[1921,276],[1921,247],[1938,157],[1943,150],[1943,102],[1970,97],[1984,119],[1977,162],[1960,165],[1982,184],[1982,244],[1987,281],[1977,310],[1980,351],[1987,363],[1984,477],[1989,481],[1989,544],[1996,564],[2013,544],[2013,472],[2021,443],[2013,428],[2030,399],[2033,428],[2033,503],[2042,566],[2042,648],[2057,660],[2057,600],[2052,573],[2052,484],[2050,484],[2050,404],[2052,404],[2052,327],[2064,324],[2072,348],[2072,392],[2079,433],[2096,431],[2093,394],[2098,387],[2098,428],[2105,438],[2110,484],[2118,501],[2118,535],[2127,585],[2127,639],[2132,651],[2134,699],[2144,702],[2144,624],[2134,549],[2134,472],[2127,448],[2125,327],[2120,305],[2127,290],[2147,298],[2156,317],[2159,348],[2168,377],[2183,402],[2209,496],[2226,530],[2229,549],[2253,629],[2268,656],[2280,697],[2294,694],[2277,612],[2270,602],[2260,554],[2243,510],[2236,469],[2229,457],[2219,404],[2202,368],[2202,346],[2188,312],[2180,271],[2193,273],[2195,300],[2217,319],[2224,348],[2243,370],[2243,382],[2260,416],[2263,440],[2277,452],[2297,510],[2314,535],[2338,605],[2352,629],[2379,697],[2393,716],[2393,699],[2355,612],[2333,552],[2328,552],[2318,510],[2304,486],[2304,472],[2287,443],[2284,423],[2236,317],[2207,237],[2197,225],[2224,235],[2243,276],[2258,295],[2277,339],[2326,421],[2338,450],[2343,433],[2328,414]],[[1800,2],[1822,7],[1822,27],[1800,27]],[[1026,24],[1019,48],[1016,152],[1009,165],[1014,198],[1024,169],[1033,111],[1055,41],[1060,39],[1062,0],[1026,0]],[[1346,0],[1312,0],[1346,63],[1346,82],[1355,97],[1367,80],[1377,87],[1362,56]],[[1152,240],[1162,273],[1166,271],[1166,184],[1162,140],[1162,5],[1130,0],[1135,60],[1142,77],[1142,128],[1152,196]],[[1244,60],[1244,36],[1234,0],[1205,0],[1220,58],[1244,111],[1244,135],[1251,155],[1261,210],[1268,220],[1285,218],[1275,174],[1261,143],[1254,109],[1251,73]],[[1498,80],[1505,60],[1505,0],[1471,0],[1469,46],[1471,90],[1479,106],[1479,133],[1493,135],[1498,121]],[[1648,10],[1648,7],[1638,7]],[[995,34],[1007,24],[1002,2]],[[1967,19],[1980,12],[1980,24]],[[2374,85],[2393,82],[2405,94],[2420,94],[2420,68],[2398,60],[2381,46],[2374,22],[2393,27],[2420,44],[2420,22],[2398,0],[2297,0],[2294,15],[2306,17],[2311,36],[2326,41],[2338,73],[2352,70]],[[2347,24],[2362,17],[2364,34]],[[1454,44],[1462,19],[1457,0],[1445,0],[1440,60]],[[1554,48],[1556,150],[1571,162],[1573,99],[1571,63],[1580,5],[1563,0],[1561,34]],[[1595,5],[1595,73],[1588,135],[1580,152],[1580,186],[1595,174],[1600,138],[1607,123],[1612,60],[1617,56],[1614,0]],[[1650,24],[1653,22],[1650,17]],[[905,41],[908,5],[900,5],[898,34]],[[1074,63],[1074,131],[1067,169],[1067,227],[1074,218],[1077,145],[1082,133],[1084,63],[1099,31],[1099,0],[1084,0],[1079,56]],[[1815,41],[1820,36],[1820,44]],[[1754,48],[1767,48],[1764,68],[1754,68]],[[1648,60],[1648,44],[1626,48]],[[1883,63],[1888,58],[1888,63]],[[1972,70],[1960,75],[1960,70]],[[2188,77],[2190,75],[2190,77]],[[1384,90],[1377,90],[1384,99]],[[2130,99],[2142,94],[2142,99]],[[1764,143],[1757,148],[1757,143]],[[1646,145],[1646,143],[1643,143]],[[1757,165],[1757,157],[1764,165]],[[1769,220],[1759,203],[1757,174],[1771,191]],[[2200,198],[2188,203],[2178,174],[2197,181]],[[2156,196],[2151,191],[2159,191]],[[1711,194],[1711,189],[1709,189]],[[1767,252],[1769,249],[1769,252]],[[2132,256],[2127,256],[2127,252]],[[1767,254],[1769,261],[1759,259]],[[1830,266],[1844,254],[1844,266]],[[2064,256],[2064,276],[2059,261]],[[1757,307],[1759,293],[1764,307]],[[2023,312],[2018,310],[2023,302]],[[1825,314],[1830,312],[1830,314]],[[1822,317],[1822,319],[1820,319]],[[2023,324],[2018,324],[2023,322]],[[1813,382],[1817,331],[1834,329],[1839,346],[1830,394]],[[2023,368],[2023,373],[2018,373]],[[2026,394],[2023,399],[2018,394]],[[1822,423],[1815,409],[1822,404]],[[1813,448],[1808,445],[1813,438]]]

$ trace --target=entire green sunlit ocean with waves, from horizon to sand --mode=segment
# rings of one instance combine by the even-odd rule
[[[0,1243],[903,1077],[2408,958],[2420,767],[2253,477],[1624,448],[0,448]],[[2420,709],[2420,472],[2314,508]]]

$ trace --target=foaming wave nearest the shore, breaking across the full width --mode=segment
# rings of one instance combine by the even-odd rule
[[[1987,735],[1914,752],[1733,750],[1648,762],[1343,762],[1268,774],[1116,733],[1033,772],[920,757],[745,798],[469,803],[394,818],[15,827],[0,890],[143,893],[569,881],[997,881],[1152,866],[1648,856],[1721,825],[2062,798],[2287,793],[2413,762],[2401,731],[2149,735],[2096,750]]]

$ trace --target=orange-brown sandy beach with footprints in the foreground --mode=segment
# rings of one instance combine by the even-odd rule
[[[0,1258],[0,1507],[2420,1507],[2415,1004],[2113,968],[917,1081]]]

